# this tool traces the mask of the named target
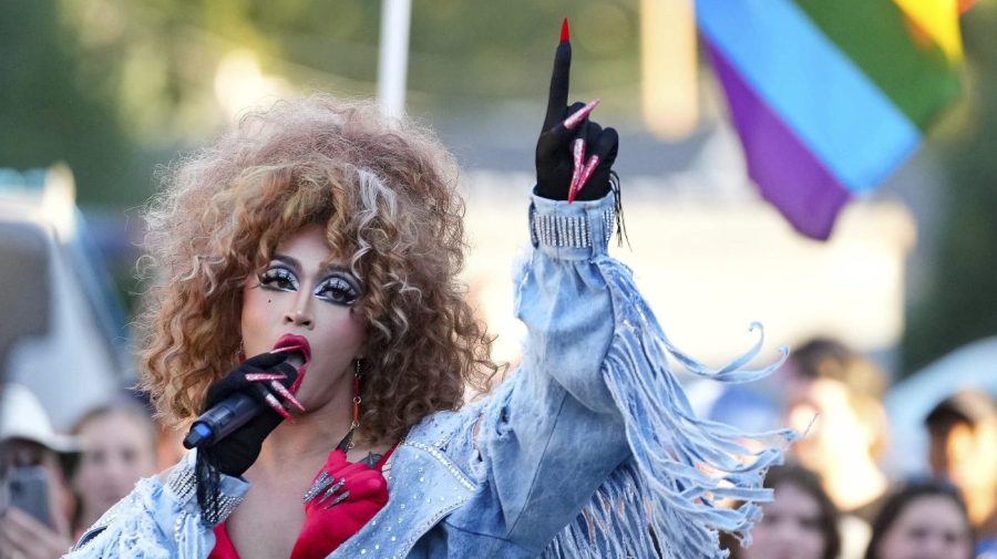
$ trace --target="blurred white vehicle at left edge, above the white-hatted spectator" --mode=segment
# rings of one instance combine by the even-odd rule
[[[61,429],[133,377],[124,314],[74,196],[63,165],[0,168],[0,379],[28,386]]]

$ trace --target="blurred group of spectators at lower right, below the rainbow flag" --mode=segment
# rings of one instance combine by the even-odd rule
[[[928,470],[881,467],[890,437],[888,379],[832,339],[795,348],[772,383],[774,414],[805,436],[773,468],[753,544],[724,538],[731,557],[997,559],[997,404],[980,390],[939,395],[923,418]],[[736,504],[732,506],[737,506]]]

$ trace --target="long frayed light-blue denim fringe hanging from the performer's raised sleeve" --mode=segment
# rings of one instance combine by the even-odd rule
[[[758,503],[772,499],[765,472],[782,463],[792,429],[748,434],[699,420],[668,356],[692,374],[727,383],[750,382],[779,368],[788,355],[758,370],[743,369],[764,337],[726,366],[712,370],[679,351],[637,294],[629,270],[598,262],[613,297],[616,334],[603,375],[623,415],[633,456],[607,479],[582,515],[551,544],[544,557],[662,557],[721,559],[718,531],[746,545],[761,517]],[[759,449],[760,448],[760,449]],[[739,508],[723,506],[743,501]]]

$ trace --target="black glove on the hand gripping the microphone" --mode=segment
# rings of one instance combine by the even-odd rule
[[[208,387],[202,413],[236,392],[251,396],[264,410],[227,437],[198,451],[204,453],[207,463],[218,472],[235,477],[249,469],[259,457],[264,439],[284,421],[284,417],[267,403],[267,394],[273,394],[278,402],[284,400],[280,394],[274,393],[271,381],[249,381],[246,379],[248,374],[281,374],[285,377],[276,382],[286,389],[289,389],[298,377],[297,369],[287,363],[287,352],[279,351],[247,359]]]

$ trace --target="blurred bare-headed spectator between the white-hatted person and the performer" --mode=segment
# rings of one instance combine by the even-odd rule
[[[72,432],[83,446],[72,482],[78,497],[73,534],[79,538],[138,479],[157,472],[156,433],[148,412],[129,401],[90,410]]]

